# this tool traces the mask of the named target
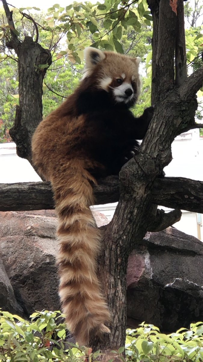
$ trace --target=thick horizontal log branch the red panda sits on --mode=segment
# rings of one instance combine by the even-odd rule
[[[120,195],[118,177],[108,176],[99,180],[94,188],[94,195],[95,205],[117,202]],[[203,182],[184,177],[156,178],[150,201],[171,209],[203,213]],[[53,194],[49,182],[0,184],[0,211],[53,208]]]

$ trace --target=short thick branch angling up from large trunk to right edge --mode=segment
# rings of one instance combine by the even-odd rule
[[[183,100],[190,100],[194,98],[196,92],[202,87],[203,84],[203,67],[200,67],[192,73],[179,88],[180,97]]]

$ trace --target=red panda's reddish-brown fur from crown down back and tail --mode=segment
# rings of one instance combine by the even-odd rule
[[[94,204],[92,183],[96,181],[88,169],[104,167],[94,155],[77,147],[92,133],[85,115],[77,115],[77,99],[81,90],[96,83],[98,74],[108,77],[116,71],[124,72],[124,67],[126,73],[129,69],[134,72],[137,92],[140,87],[135,60],[111,52],[104,54],[107,64],[104,60],[96,73],[88,66],[87,77],[78,89],[39,124],[33,136],[33,162],[39,174],[51,181],[59,218],[57,262],[62,309],[69,330],[84,345],[91,333],[109,332],[105,323],[110,315],[96,276],[100,235],[89,209]],[[117,69],[120,63],[121,70]]]

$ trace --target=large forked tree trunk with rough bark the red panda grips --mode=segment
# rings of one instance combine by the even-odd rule
[[[128,256],[135,245],[141,243],[150,225],[156,223],[156,206],[151,202],[153,185],[172,159],[174,138],[194,127],[195,94],[203,81],[203,68],[186,77],[183,0],[178,1],[177,16],[169,0],[148,0],[148,5],[154,20],[152,104],[155,112],[139,154],[121,169],[120,199],[103,235],[99,274],[113,322],[111,334],[102,340],[93,338],[92,344],[105,353],[104,360],[110,358],[111,349],[125,344]]]

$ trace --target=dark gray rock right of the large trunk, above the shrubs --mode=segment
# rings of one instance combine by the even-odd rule
[[[202,241],[173,227],[147,233],[129,257],[127,283],[131,326],[174,331],[203,320]]]

